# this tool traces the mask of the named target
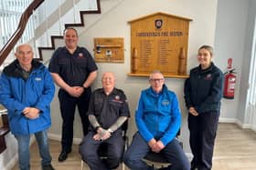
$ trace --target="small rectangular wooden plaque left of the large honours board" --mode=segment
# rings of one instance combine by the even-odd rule
[[[123,38],[94,38],[95,62],[123,63]]]

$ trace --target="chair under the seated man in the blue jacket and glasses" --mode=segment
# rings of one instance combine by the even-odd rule
[[[180,135],[180,130],[177,132],[176,140],[178,140],[178,135]],[[183,143],[181,141],[178,140],[178,143],[183,147]],[[149,152],[147,155],[145,155],[144,162],[147,165],[150,165],[156,168],[164,168],[164,167],[167,167],[168,165],[171,165],[171,163],[167,162],[165,157],[155,152]]]

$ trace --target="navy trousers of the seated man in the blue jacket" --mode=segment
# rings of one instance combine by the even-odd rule
[[[150,170],[152,167],[146,165],[142,160],[150,151],[149,145],[144,138],[137,132],[133,135],[133,142],[123,155],[123,162],[131,170]],[[181,145],[174,139],[161,151],[161,154],[172,165],[168,166],[169,170],[190,170],[190,164],[187,156],[182,150]]]

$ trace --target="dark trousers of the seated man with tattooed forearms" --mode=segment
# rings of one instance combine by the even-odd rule
[[[116,131],[105,141],[93,139],[95,132],[89,132],[80,144],[80,155],[91,170],[109,170],[118,167],[123,158],[124,140],[121,131]],[[98,155],[99,147],[104,143],[107,146],[106,160]]]

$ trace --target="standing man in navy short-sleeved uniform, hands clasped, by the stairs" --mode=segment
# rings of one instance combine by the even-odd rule
[[[88,133],[86,112],[91,97],[91,84],[97,76],[97,65],[84,47],[78,46],[78,33],[74,28],[64,30],[65,46],[59,47],[51,57],[49,71],[59,85],[59,105],[62,123],[62,151],[59,162],[67,159],[73,142],[73,122],[76,105],[80,113],[83,134]]]

